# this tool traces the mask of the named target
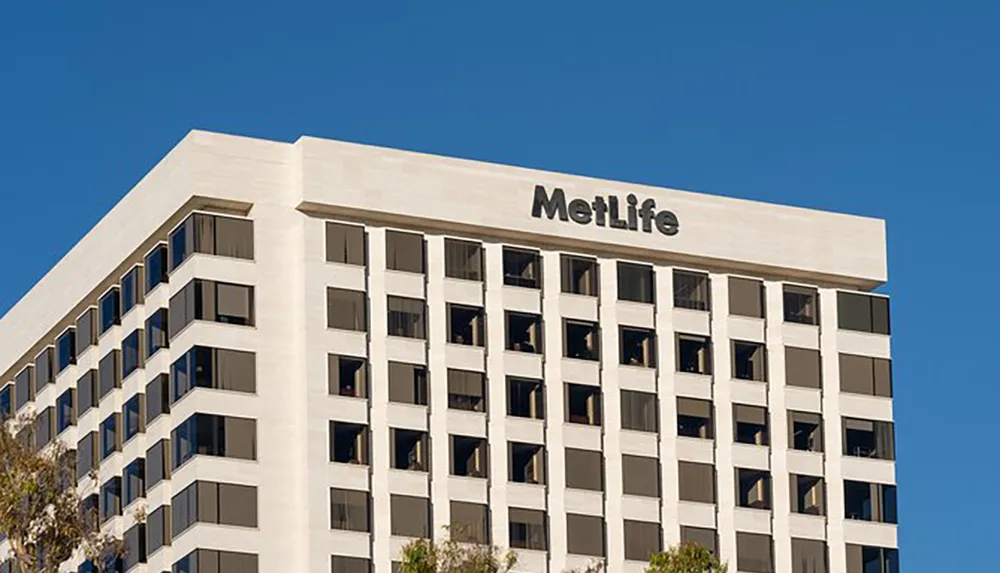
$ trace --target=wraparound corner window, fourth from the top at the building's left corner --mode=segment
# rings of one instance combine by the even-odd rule
[[[172,469],[194,456],[257,459],[257,421],[251,418],[192,414],[170,433]]]

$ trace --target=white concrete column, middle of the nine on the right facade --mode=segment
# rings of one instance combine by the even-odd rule
[[[625,561],[625,526],[622,521],[621,389],[618,383],[618,263],[598,259],[601,299],[598,318],[601,332],[601,390],[604,449],[604,522],[608,563]]]

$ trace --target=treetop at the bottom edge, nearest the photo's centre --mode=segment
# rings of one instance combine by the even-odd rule
[[[447,528],[446,528],[447,529]],[[403,548],[402,573],[507,573],[517,564],[513,551],[463,543],[460,532],[438,541],[418,539]]]

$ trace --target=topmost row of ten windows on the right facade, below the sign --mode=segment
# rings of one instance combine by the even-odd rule
[[[423,236],[418,233],[386,231],[386,268],[423,274],[426,254]],[[479,242],[444,240],[445,276],[482,281],[483,246]],[[364,227],[328,222],[326,260],[348,265],[367,264]],[[542,257],[538,251],[503,248],[505,285],[540,289]],[[650,265],[617,263],[618,299],[655,304],[655,273]],[[561,290],[564,293],[598,296],[597,259],[574,255],[560,256]],[[704,273],[674,271],[674,306],[691,310],[711,310],[709,277]],[[888,300],[857,293],[839,293],[840,328],[889,334]],[[784,320],[819,324],[819,293],[815,288],[786,285],[783,292]],[[764,318],[764,284],[753,279],[729,279],[729,311],[738,316]]]

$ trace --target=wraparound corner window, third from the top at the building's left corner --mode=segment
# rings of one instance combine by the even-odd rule
[[[257,358],[253,352],[195,346],[170,366],[170,403],[195,388],[253,394],[257,391]]]

